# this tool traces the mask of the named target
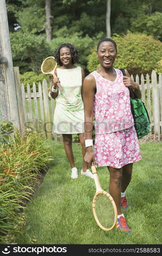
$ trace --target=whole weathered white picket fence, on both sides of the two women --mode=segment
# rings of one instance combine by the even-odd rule
[[[16,81],[19,76],[16,68],[14,68],[14,74],[17,77],[17,79],[15,78]],[[131,78],[134,79],[133,76]],[[141,75],[141,77],[136,75],[134,80],[140,84],[142,101],[146,105],[151,121],[151,133],[155,134],[158,137],[158,141],[160,141],[160,134],[162,133],[162,76],[152,71],[151,77],[148,74],[146,78],[144,78],[144,75]],[[38,131],[43,131],[48,139],[54,138],[62,141],[62,135],[52,132],[55,100],[49,95],[49,87],[50,84],[44,79],[39,82],[37,87],[35,83],[32,86],[28,84],[27,93],[25,93],[24,84],[20,86],[20,81],[17,82],[16,92],[19,117],[24,120],[24,124],[22,120],[20,122],[21,126],[23,126],[21,130],[37,129]],[[32,104],[32,101],[34,104]],[[22,118],[22,116],[24,117]]]

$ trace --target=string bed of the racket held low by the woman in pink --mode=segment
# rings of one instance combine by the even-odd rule
[[[111,228],[114,224],[115,212],[110,199],[104,194],[96,197],[95,211],[98,221],[104,228]]]

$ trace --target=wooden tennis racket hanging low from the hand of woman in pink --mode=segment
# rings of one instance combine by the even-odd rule
[[[91,166],[91,170],[96,184],[96,194],[92,201],[94,217],[101,229],[109,231],[114,228],[117,223],[117,207],[113,198],[101,188],[97,170],[94,165]]]

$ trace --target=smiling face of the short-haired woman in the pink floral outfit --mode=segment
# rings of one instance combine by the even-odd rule
[[[97,57],[99,58],[100,65],[104,68],[110,68],[113,66],[113,62],[117,56],[117,50],[115,46],[110,41],[101,42]]]

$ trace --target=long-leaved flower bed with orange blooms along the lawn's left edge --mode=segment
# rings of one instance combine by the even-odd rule
[[[24,230],[25,214],[22,210],[39,183],[41,172],[46,171],[50,147],[43,136],[17,132],[12,142],[0,144],[0,243],[17,243]],[[31,240],[30,238],[29,240]]]

